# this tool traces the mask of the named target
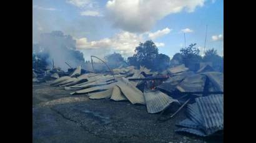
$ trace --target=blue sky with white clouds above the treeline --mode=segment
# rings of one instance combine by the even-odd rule
[[[113,52],[130,57],[145,40],[170,58],[192,43],[201,55],[204,45],[224,55],[223,5],[223,0],[33,0],[32,42],[61,30],[76,40],[86,60]]]

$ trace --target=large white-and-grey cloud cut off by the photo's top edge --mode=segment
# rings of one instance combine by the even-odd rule
[[[194,12],[205,0],[109,0],[107,17],[115,27],[129,32],[147,32],[155,22],[169,14]]]

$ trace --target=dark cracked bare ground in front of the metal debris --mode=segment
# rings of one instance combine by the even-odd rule
[[[70,95],[49,83],[32,86],[33,142],[222,142],[175,133],[185,109],[159,122],[143,105]]]

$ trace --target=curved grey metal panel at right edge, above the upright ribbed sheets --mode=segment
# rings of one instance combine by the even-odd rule
[[[220,72],[206,72],[202,73],[202,75],[206,75],[210,83],[214,85],[216,91],[224,91],[224,74]]]

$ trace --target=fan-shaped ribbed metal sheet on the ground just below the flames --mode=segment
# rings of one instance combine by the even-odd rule
[[[179,102],[176,99],[172,99],[170,96],[165,95],[161,91],[150,91],[144,89],[145,103],[148,113],[159,113],[165,109],[172,102]]]

